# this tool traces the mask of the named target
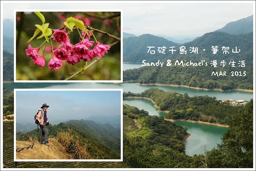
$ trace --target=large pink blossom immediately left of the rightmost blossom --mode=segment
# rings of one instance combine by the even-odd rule
[[[84,39],[86,40],[86,39]],[[76,45],[74,45],[70,52],[76,56],[79,57],[79,59],[82,60],[91,60],[93,58],[93,56],[90,55],[90,51],[88,49],[88,47],[83,44],[83,43],[77,43]]]

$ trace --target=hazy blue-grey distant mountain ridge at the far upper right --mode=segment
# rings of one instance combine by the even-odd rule
[[[237,21],[227,23],[225,27],[218,29],[216,31],[226,32],[233,35],[253,32],[253,15],[246,18],[242,18]]]

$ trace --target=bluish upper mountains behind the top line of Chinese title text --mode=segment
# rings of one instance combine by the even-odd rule
[[[153,37],[153,35],[150,35]],[[124,39],[123,51],[124,51],[124,62],[130,63],[142,63],[143,60],[146,62],[156,63],[158,60],[166,61],[168,59],[172,60],[177,57],[186,58],[188,60],[201,61],[205,60],[208,64],[212,60],[217,60],[218,65],[222,60],[225,60],[227,64],[229,61],[238,61],[245,60],[246,67],[253,65],[253,32],[240,34],[240,35],[231,35],[225,32],[210,32],[206,33],[198,39],[190,41],[184,44],[175,44],[171,43],[166,39],[147,39],[149,35],[141,35],[139,37],[129,37]],[[140,39],[139,39],[140,38]],[[155,50],[155,54],[150,54],[148,52],[147,46],[152,46],[150,50]],[[158,51],[158,47],[166,47],[165,54]],[[180,54],[180,47],[184,46],[184,54]],[[217,53],[213,54],[212,46],[215,48],[217,46]],[[170,48],[174,47],[174,48]],[[198,53],[192,52],[194,47],[198,48]],[[222,48],[225,47],[225,48]],[[227,47],[229,49],[227,49]],[[176,51],[169,51],[169,50]],[[203,50],[205,49],[205,50]],[[240,52],[239,52],[240,49]],[[186,54],[185,54],[186,51]],[[238,52],[238,53],[233,53]],[[147,53],[148,52],[148,53]],[[229,52],[229,53],[228,53]]]

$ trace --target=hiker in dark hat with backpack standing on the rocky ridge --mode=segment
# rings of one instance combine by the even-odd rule
[[[47,106],[47,104],[43,104],[42,105],[42,111],[39,111],[38,112],[38,115],[37,115],[37,120],[39,121],[39,126],[40,128],[42,129],[42,137],[41,137],[41,142],[42,144],[45,144],[46,146],[50,146],[50,144],[48,143],[48,138],[49,138],[49,131],[47,130],[46,126],[49,125],[49,121],[48,121],[48,115],[47,115],[47,108],[49,106]],[[41,117],[42,115],[42,117]],[[41,118],[41,119],[40,119]]]

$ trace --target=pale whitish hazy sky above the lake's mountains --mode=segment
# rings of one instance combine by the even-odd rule
[[[15,1],[14,1],[15,2]],[[95,11],[123,9],[123,32],[165,35],[174,39],[202,36],[227,23],[253,15],[255,1],[44,1],[45,3],[9,3],[1,1],[3,19],[13,19],[14,9],[53,9],[61,11]],[[33,1],[35,2],[35,1]],[[42,1],[41,1],[42,2]],[[84,3],[81,3],[84,2]],[[90,1],[91,2],[91,1]],[[154,3],[153,3],[154,2]],[[167,3],[166,3],[167,2]],[[178,2],[178,3],[177,3]],[[203,2],[203,3],[202,3]],[[224,3],[223,3],[224,2]],[[231,1],[232,2],[232,1]],[[254,3],[254,4],[253,4]]]

